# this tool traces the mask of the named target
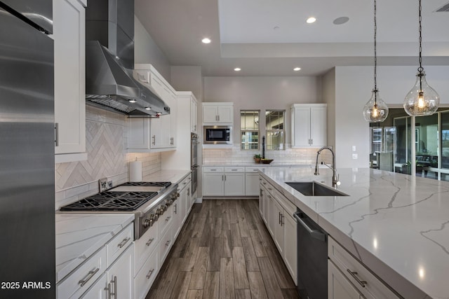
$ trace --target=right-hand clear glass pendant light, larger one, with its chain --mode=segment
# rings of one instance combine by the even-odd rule
[[[427,84],[426,73],[422,67],[422,37],[421,37],[421,0],[419,0],[419,20],[420,20],[420,67],[416,74],[416,83],[412,90],[404,99],[404,110],[410,116],[431,116],[436,112],[440,105],[440,97],[438,93]]]

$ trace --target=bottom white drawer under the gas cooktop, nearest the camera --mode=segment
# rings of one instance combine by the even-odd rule
[[[149,258],[145,261],[142,269],[138,272],[134,279],[134,293],[135,298],[145,299],[149,288],[151,288],[154,279],[159,271],[157,263],[157,251],[155,250]]]

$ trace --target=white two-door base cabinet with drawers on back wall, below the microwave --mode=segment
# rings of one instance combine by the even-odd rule
[[[204,196],[244,196],[245,167],[203,167]]]

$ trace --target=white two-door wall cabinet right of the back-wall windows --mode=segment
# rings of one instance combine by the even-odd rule
[[[292,148],[327,145],[327,104],[293,104],[290,115]]]

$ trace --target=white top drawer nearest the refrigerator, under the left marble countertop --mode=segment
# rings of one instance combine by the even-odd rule
[[[106,268],[106,248],[102,247],[78,269],[69,274],[67,279],[58,284],[56,287],[57,297],[59,299],[72,298],[75,295],[78,298],[105,272]]]

